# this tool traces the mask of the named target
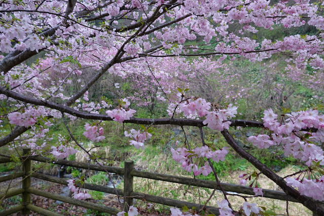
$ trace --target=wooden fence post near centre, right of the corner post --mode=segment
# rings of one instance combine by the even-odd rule
[[[134,161],[125,161],[124,172],[124,211],[128,212],[129,206],[133,205],[133,198],[130,197],[133,192],[133,176],[130,172],[134,168]]]

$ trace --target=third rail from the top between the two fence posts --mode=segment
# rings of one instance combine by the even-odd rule
[[[100,205],[100,204],[96,204],[96,203],[92,203],[92,202],[87,202],[87,201],[84,201],[84,200],[78,200],[78,199],[74,199],[74,198],[70,198],[70,197],[65,197],[65,196],[61,196],[61,195],[57,195],[57,194],[52,194],[52,193],[37,190],[37,189],[34,189],[34,188],[28,188],[27,191],[29,193],[34,194],[34,195],[47,197],[47,198],[54,199],[54,200],[59,200],[59,201],[62,201],[62,202],[82,206],[82,207],[89,208],[89,209],[96,210],[96,211],[100,211],[100,212],[105,212],[105,213],[110,213],[110,214],[117,214],[118,212],[121,211],[118,208],[108,207],[108,206],[104,206],[104,205]]]

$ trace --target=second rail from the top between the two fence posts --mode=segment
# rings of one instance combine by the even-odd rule
[[[58,184],[62,184],[62,185],[67,185],[68,184],[66,182],[66,179],[64,179],[64,178],[54,177],[54,176],[41,174],[41,173],[37,173],[37,172],[32,173],[31,176],[34,177],[34,178],[39,178],[39,179],[43,179],[45,181],[54,182],[54,183],[58,183]],[[80,184],[76,184],[76,186],[77,187],[82,187],[82,188],[85,188],[85,189],[89,189],[89,190],[93,190],[93,191],[100,191],[100,192],[109,193],[109,194],[116,194],[115,189],[105,187],[105,186],[88,184],[88,183],[84,183],[83,186],[81,186]],[[116,190],[117,190],[117,193],[119,195],[124,194],[123,190],[121,190],[121,189],[116,189]]]

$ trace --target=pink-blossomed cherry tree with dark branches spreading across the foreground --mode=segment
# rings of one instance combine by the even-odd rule
[[[39,147],[46,146],[51,139],[48,132],[52,119],[64,118],[64,114],[71,120],[99,120],[85,125],[84,135],[95,142],[105,138],[99,126],[101,121],[140,124],[140,130],[125,132],[132,139],[130,145],[140,149],[145,148],[145,140],[151,137],[151,125],[196,126],[201,132],[202,145],[194,149],[190,146],[171,149],[172,156],[194,175],[214,173],[219,183],[211,160],[223,161],[229,151],[206,145],[203,127],[207,126],[221,131],[231,148],[260,170],[240,176],[242,184],[251,181],[256,196],[262,196],[257,179],[263,174],[310,210],[324,214],[324,209],[314,201],[324,200],[324,156],[317,146],[324,141],[324,117],[317,110],[277,116],[270,109],[264,112],[263,123],[233,120],[237,115],[235,105],[219,107],[212,104],[214,101],[188,95],[187,88],[178,88],[177,96],[174,93],[180,83],[190,88],[186,82],[198,73],[206,70],[210,76],[212,68],[226,67],[226,59],[233,61],[238,56],[262,61],[286,54],[287,71],[302,76],[306,65],[310,66],[318,73],[303,81],[318,85],[324,68],[323,7],[321,1],[306,0],[1,1],[0,120],[4,128],[12,127],[2,133],[0,147],[15,146],[20,139],[24,142],[20,146],[27,145],[34,154],[42,154]],[[235,31],[231,31],[233,26]],[[260,41],[249,37],[260,29],[271,31],[275,26],[294,29],[311,26],[316,33],[286,35],[273,41],[266,35]],[[187,41],[195,43],[187,45]],[[196,63],[191,64],[185,57],[196,57],[192,61]],[[298,79],[296,73],[295,77],[289,74],[287,77]],[[142,93],[119,100],[112,110],[105,100],[91,101],[88,90],[106,74],[134,79],[138,92]],[[229,79],[224,77],[224,82]],[[71,86],[74,87],[71,91],[64,91]],[[119,88],[118,83],[113,86]],[[244,89],[232,92],[225,98],[243,92]],[[130,108],[129,100],[138,98],[151,105],[156,103],[155,98],[168,102],[170,118],[135,118],[136,111]],[[228,131],[230,126],[263,128],[263,133],[249,137],[253,145],[258,148],[283,145],[286,156],[305,162],[308,169],[295,176],[279,177],[236,143]],[[73,131],[69,134],[82,147],[73,137]],[[64,138],[59,141],[59,146],[52,147],[56,158],[66,158],[77,151]],[[69,186],[77,192],[76,198],[89,197],[82,189],[76,189],[71,180]],[[219,203],[221,214],[262,214],[263,209],[255,203],[244,202],[240,209],[232,209],[224,190],[223,193],[225,199]],[[128,210],[128,214],[137,212],[132,206]],[[172,208],[171,213],[184,212]]]

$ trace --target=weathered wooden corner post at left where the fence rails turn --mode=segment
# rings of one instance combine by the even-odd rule
[[[30,156],[30,149],[23,149],[23,155],[24,156]],[[26,208],[28,204],[30,204],[30,193],[26,191],[27,188],[30,187],[30,173],[31,173],[31,160],[29,158],[26,158],[23,162],[23,171],[24,175],[22,176],[22,189],[24,189],[24,192],[22,192],[22,205],[24,205],[24,209],[22,210],[23,214],[29,214],[30,210]]]

